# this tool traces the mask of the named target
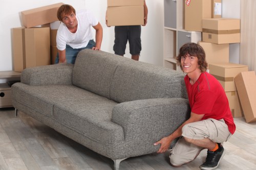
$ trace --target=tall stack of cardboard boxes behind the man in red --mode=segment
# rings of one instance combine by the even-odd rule
[[[233,117],[241,117],[245,110],[242,111],[234,78],[248,72],[248,66],[229,63],[229,43],[240,43],[240,19],[222,18],[221,3],[221,0],[186,0],[184,29],[202,32],[198,44],[206,53],[209,72],[223,86]]]

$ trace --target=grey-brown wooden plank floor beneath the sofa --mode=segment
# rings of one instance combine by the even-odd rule
[[[256,124],[246,124],[235,118],[236,133],[224,143],[226,154],[217,169],[256,169]],[[168,152],[123,160],[120,170],[199,169],[204,162],[203,150],[193,162],[175,168],[169,165]],[[1,170],[108,170],[111,159],[101,156],[30,116],[13,109],[0,109],[0,169]]]

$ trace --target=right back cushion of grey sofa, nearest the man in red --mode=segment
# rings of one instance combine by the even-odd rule
[[[117,66],[110,97],[118,103],[155,98],[187,99],[184,74],[129,59]]]

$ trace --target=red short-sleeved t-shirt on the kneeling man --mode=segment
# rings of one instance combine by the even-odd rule
[[[229,132],[233,134],[236,131],[236,125],[233,121],[226,93],[220,82],[208,72],[202,72],[193,85],[189,83],[190,79],[187,75],[184,80],[191,112],[204,114],[202,120],[207,118],[224,119]]]

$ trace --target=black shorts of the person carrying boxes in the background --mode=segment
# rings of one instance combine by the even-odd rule
[[[116,55],[123,56],[127,40],[130,45],[130,54],[139,55],[141,51],[141,26],[116,26],[115,44],[113,50]]]

